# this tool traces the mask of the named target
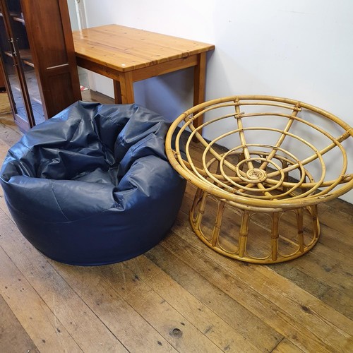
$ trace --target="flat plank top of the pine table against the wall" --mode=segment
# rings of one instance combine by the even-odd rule
[[[122,25],[73,32],[76,56],[117,71],[133,71],[215,49],[213,44]]]

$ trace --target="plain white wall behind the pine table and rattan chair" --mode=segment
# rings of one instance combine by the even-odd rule
[[[215,44],[206,100],[289,97],[353,126],[352,0],[84,1],[88,27],[118,23]],[[172,120],[192,106],[192,76],[187,69],[135,83],[136,102]],[[97,88],[112,95],[106,78]],[[353,203],[353,192],[342,198]]]

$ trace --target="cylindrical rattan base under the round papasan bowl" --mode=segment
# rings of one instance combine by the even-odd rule
[[[237,217],[227,220],[226,210]],[[295,218],[291,225],[287,213]],[[264,224],[266,217],[268,222]],[[316,205],[260,213],[237,208],[201,189],[196,192],[190,222],[198,238],[211,249],[249,263],[281,263],[298,258],[310,251],[320,236]],[[297,227],[293,227],[295,224]],[[253,236],[252,228],[257,230]]]

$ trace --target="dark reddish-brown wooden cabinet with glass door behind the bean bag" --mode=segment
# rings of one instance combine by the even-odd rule
[[[0,33],[6,90],[21,130],[81,99],[66,0],[0,0]]]

